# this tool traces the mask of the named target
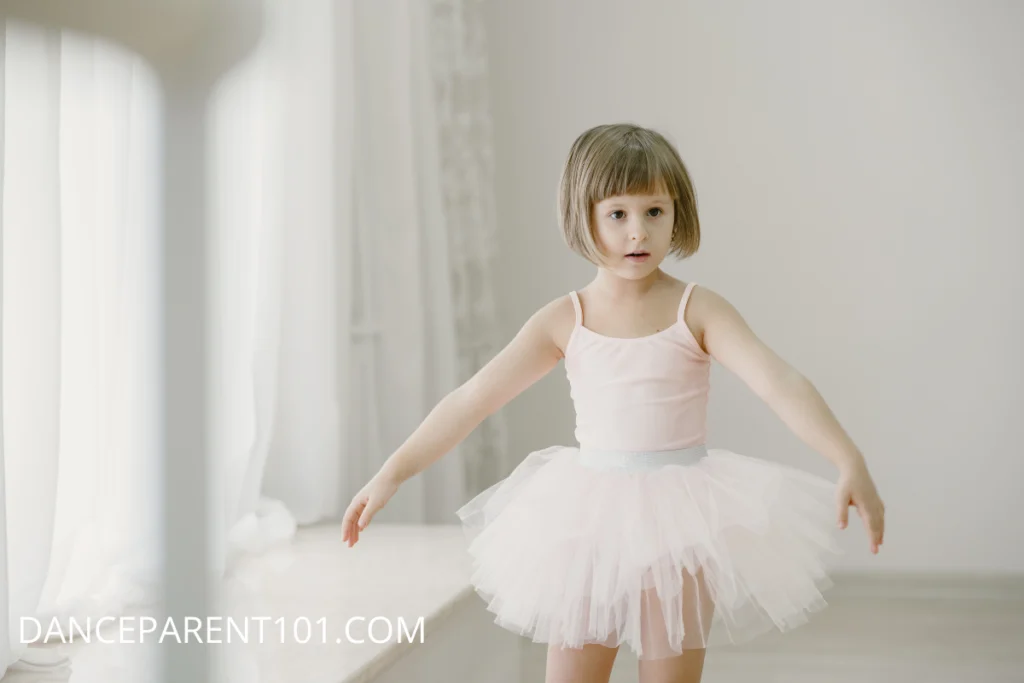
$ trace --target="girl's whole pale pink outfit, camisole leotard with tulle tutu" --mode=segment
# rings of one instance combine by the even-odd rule
[[[640,659],[738,643],[824,606],[835,484],[705,444],[710,357],[677,322],[635,339],[578,319],[575,445],[529,453],[457,511],[495,624]]]

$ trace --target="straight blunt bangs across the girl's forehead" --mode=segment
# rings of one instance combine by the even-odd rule
[[[622,195],[657,195],[665,191],[673,200],[678,194],[673,191],[670,178],[670,160],[658,154],[658,148],[644,144],[639,136],[626,145],[605,155],[594,168],[593,182],[590,184],[591,202],[600,202],[609,197]]]

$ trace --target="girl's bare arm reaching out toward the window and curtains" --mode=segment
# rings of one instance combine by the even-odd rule
[[[568,299],[552,301],[534,313],[508,346],[472,378],[444,396],[352,500],[342,522],[343,540],[349,541],[349,546],[354,544],[359,529],[370,523],[401,482],[440,459],[484,418],[551,372],[562,358],[555,339],[573,319]]]

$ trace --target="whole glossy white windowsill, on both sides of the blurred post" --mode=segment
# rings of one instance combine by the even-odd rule
[[[466,636],[465,614],[489,618],[469,584],[470,566],[459,525],[374,522],[353,548],[342,543],[337,523],[300,528],[291,544],[241,562],[227,581],[219,596],[223,607],[210,610],[222,617],[222,631],[216,635],[220,642],[209,648],[215,666],[211,680],[369,683],[382,675],[390,680],[384,672],[414,652],[419,656],[403,667],[420,667],[438,658],[444,665],[453,634],[463,639],[459,646],[473,647],[476,632]],[[137,609],[126,615],[143,614],[153,612]],[[352,623],[346,635],[346,622],[353,616],[365,618]],[[247,643],[240,642],[238,632],[227,642],[227,617],[249,625]],[[262,640],[257,637],[259,623],[252,617],[267,617]],[[374,617],[381,618],[373,634],[385,642],[370,640],[368,626]],[[311,630],[303,643],[306,621]],[[298,637],[293,632],[296,624],[300,625]],[[394,628],[390,636],[388,626]],[[472,628],[479,630],[479,626]],[[485,638],[494,638],[495,632],[485,633]],[[413,642],[409,642],[410,635]],[[160,646],[152,643],[155,638],[151,635],[151,640],[139,644],[134,633],[128,642],[110,642],[117,634],[108,633],[108,642],[93,639],[44,646],[40,655],[67,654],[70,664],[41,669],[16,666],[3,683],[66,681],[72,671],[75,683],[156,680]],[[359,639],[366,642],[355,642]],[[489,655],[493,650],[486,650],[487,646],[482,642],[476,651]],[[511,651],[507,645],[502,647]]]

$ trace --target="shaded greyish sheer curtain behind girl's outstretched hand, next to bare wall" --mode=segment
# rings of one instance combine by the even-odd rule
[[[345,498],[447,391],[498,351],[493,141],[478,0],[352,3],[354,255]],[[378,513],[457,521],[507,473],[504,419],[488,418]]]

